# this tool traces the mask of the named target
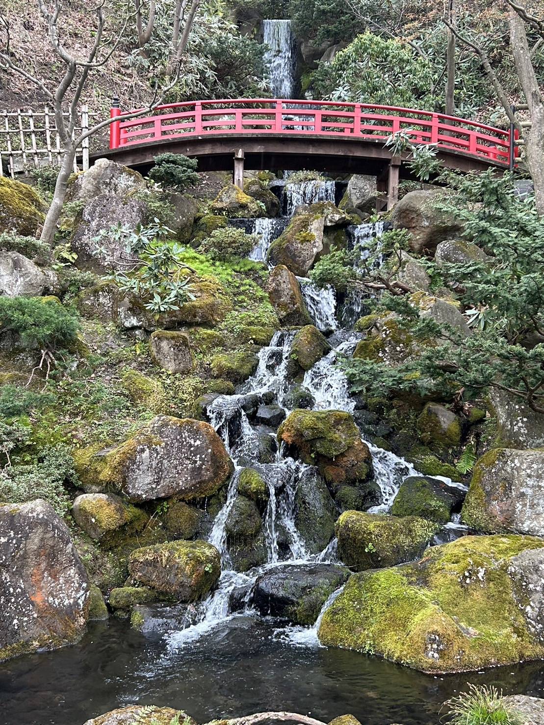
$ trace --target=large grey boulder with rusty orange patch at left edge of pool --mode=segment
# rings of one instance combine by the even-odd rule
[[[0,506],[0,661],[75,642],[88,595],[85,567],[51,505]]]

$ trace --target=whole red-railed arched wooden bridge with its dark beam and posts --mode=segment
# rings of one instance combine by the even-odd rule
[[[461,171],[514,166],[515,137],[502,130],[430,111],[334,101],[236,99],[159,106],[128,118],[117,107],[110,151],[94,154],[147,170],[164,152],[199,159],[199,170],[232,170],[241,186],[248,169],[316,169],[375,175],[388,206],[399,178],[413,178],[387,138],[402,132],[429,144],[445,167]]]

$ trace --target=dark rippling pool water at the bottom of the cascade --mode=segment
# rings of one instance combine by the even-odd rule
[[[353,713],[363,725],[437,725],[441,703],[467,681],[541,697],[544,663],[441,679],[358,653],[295,647],[251,618],[179,650],[111,621],[90,626],[78,645],[1,665],[0,724],[83,725],[141,703],[181,708],[201,723],[290,710],[324,721]]]

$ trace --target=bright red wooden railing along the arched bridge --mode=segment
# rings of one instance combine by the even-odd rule
[[[360,138],[384,142],[403,132],[413,144],[432,144],[508,165],[510,131],[430,111],[336,101],[236,99],[170,104],[152,115],[123,120],[120,109],[110,128],[110,147],[149,144],[171,138],[225,134],[291,134]]]

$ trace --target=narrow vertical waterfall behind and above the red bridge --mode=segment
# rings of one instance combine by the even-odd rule
[[[294,96],[296,63],[294,38],[290,20],[263,20],[265,67],[273,98]]]

